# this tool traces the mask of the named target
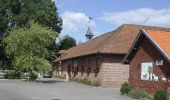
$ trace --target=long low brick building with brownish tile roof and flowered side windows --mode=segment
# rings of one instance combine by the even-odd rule
[[[128,81],[129,65],[121,64],[140,29],[163,29],[125,24],[66,51],[59,52],[56,74],[100,81],[102,87],[120,87]]]

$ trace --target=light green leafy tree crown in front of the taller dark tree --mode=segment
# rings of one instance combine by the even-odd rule
[[[30,28],[13,29],[3,40],[3,45],[16,70],[44,73],[52,68],[46,57],[55,35],[47,27],[31,23]]]

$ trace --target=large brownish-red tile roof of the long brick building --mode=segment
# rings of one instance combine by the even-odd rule
[[[57,61],[96,53],[126,54],[141,28],[160,31],[170,30],[170,28],[124,24],[112,32],[68,49]]]

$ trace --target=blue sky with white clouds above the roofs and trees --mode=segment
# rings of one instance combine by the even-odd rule
[[[94,37],[128,24],[170,27],[170,0],[56,0],[63,18],[60,36],[85,41],[88,16],[93,17]]]

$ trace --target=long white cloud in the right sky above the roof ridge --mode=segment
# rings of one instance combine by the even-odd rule
[[[140,8],[124,12],[105,12],[100,19],[117,26],[128,23],[170,27],[170,9]]]

